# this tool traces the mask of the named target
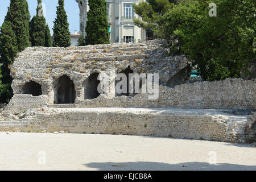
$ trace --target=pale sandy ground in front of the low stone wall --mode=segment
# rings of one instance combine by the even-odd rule
[[[0,133],[0,170],[256,170],[256,148],[126,135]]]

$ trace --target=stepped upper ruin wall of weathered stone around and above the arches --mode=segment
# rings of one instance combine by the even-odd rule
[[[11,68],[14,94],[23,94],[24,85],[34,81],[42,86],[48,104],[55,104],[57,81],[67,76],[75,85],[75,103],[85,100],[85,82],[93,73],[111,73],[130,69],[134,73],[159,73],[162,85],[172,85],[172,77],[183,73],[177,82],[190,75],[184,56],[167,57],[167,49],[160,41],[139,44],[105,44],[69,48],[26,48]],[[171,84],[171,85],[170,85]],[[115,93],[106,93],[114,97]]]

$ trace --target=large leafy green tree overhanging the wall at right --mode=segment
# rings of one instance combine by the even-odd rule
[[[217,16],[213,17],[209,3],[184,1],[160,18],[170,51],[189,56],[206,80],[240,77],[256,57],[255,1],[216,0]]]

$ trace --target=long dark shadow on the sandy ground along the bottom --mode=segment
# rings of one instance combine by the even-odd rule
[[[179,163],[179,164],[166,164],[156,162],[130,162],[130,163],[89,163],[84,164],[89,168],[95,168],[100,171],[204,171],[204,170],[220,170],[220,171],[256,171],[256,166],[245,166],[237,164],[216,164],[209,163]]]

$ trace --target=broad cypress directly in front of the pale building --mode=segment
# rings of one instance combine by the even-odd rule
[[[109,24],[107,19],[106,0],[89,0],[90,10],[86,23],[85,43],[109,44]]]

